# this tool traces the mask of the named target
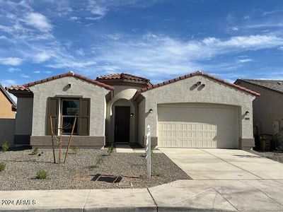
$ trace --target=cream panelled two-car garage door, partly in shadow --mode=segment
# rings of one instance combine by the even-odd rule
[[[238,108],[158,106],[158,146],[238,148]]]

